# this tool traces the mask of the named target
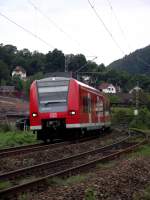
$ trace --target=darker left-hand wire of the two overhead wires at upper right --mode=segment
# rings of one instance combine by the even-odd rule
[[[99,19],[99,21],[101,22],[101,24],[103,25],[103,27],[105,28],[105,30],[107,31],[107,33],[109,34],[109,36],[111,37],[111,39],[113,40],[113,42],[115,43],[115,45],[118,47],[118,49],[121,51],[121,53],[125,56],[126,53],[124,52],[124,50],[120,47],[119,43],[116,41],[116,39],[114,38],[113,34],[111,33],[111,31],[107,28],[106,24],[104,23],[104,21],[102,20],[102,18],[100,17],[99,13],[97,12],[97,10],[95,9],[95,7],[92,5],[92,3],[90,2],[90,0],[88,0],[89,5],[91,6],[92,10],[94,11],[95,15],[97,16],[97,18]]]

